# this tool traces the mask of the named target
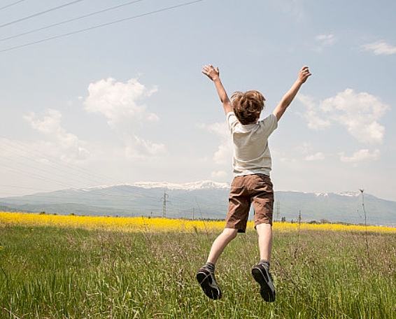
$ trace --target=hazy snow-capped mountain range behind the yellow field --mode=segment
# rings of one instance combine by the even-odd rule
[[[201,182],[134,183],[58,190],[0,199],[7,211],[69,215],[166,216],[224,219],[229,185]],[[364,196],[364,197],[363,197]],[[363,205],[364,204],[364,205]],[[3,210],[3,209],[1,209]],[[396,202],[361,192],[275,192],[274,220],[365,222],[396,226]],[[251,215],[250,215],[251,216]]]

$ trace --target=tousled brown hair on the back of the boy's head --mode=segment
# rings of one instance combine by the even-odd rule
[[[264,108],[264,96],[255,90],[234,92],[231,96],[232,108],[242,125],[253,123]]]

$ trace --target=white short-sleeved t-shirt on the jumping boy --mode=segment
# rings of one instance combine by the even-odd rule
[[[257,124],[242,125],[234,112],[227,113],[227,124],[232,134],[234,176],[265,174],[271,171],[271,153],[268,138],[278,127],[274,114]]]

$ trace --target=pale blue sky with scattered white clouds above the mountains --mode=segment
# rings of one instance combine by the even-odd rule
[[[0,1],[0,197],[232,181],[222,105],[259,90],[275,190],[396,201],[393,0]]]

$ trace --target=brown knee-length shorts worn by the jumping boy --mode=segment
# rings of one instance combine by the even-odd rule
[[[234,177],[229,192],[225,227],[246,232],[250,204],[253,204],[255,210],[255,226],[272,225],[274,190],[269,176],[255,174]]]

